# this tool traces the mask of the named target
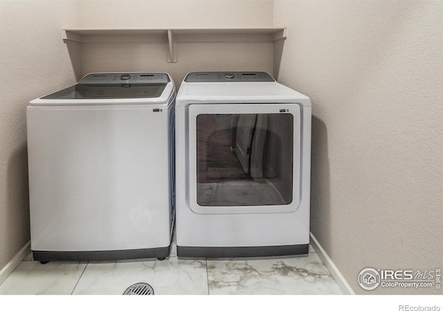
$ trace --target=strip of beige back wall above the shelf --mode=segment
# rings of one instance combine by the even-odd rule
[[[272,26],[272,0],[80,0],[84,28]]]

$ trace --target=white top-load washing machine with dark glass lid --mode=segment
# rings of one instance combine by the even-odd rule
[[[91,73],[30,102],[35,260],[169,255],[175,97],[167,73]]]

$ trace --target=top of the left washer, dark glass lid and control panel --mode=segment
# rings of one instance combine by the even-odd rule
[[[167,73],[91,73],[30,105],[166,104],[174,91]]]

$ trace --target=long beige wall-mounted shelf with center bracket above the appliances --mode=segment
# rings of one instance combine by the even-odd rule
[[[285,27],[215,28],[69,28],[64,41],[79,43],[168,44],[168,62],[177,62],[178,42],[273,42],[286,39]]]

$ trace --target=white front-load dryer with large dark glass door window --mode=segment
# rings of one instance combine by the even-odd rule
[[[307,254],[311,102],[262,72],[193,72],[176,102],[177,254]]]

